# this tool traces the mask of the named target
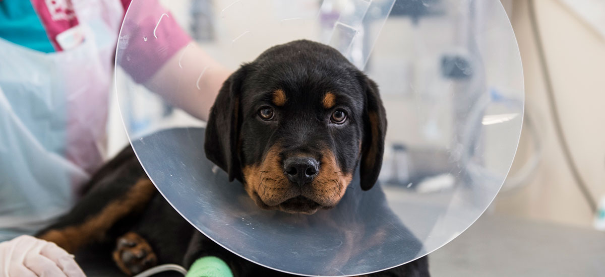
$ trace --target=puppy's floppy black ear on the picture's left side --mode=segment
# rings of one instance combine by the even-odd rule
[[[246,78],[247,66],[243,65],[223,83],[217,99],[210,109],[204,150],[206,157],[229,175],[241,181],[240,155],[237,141],[240,137],[241,86]]]

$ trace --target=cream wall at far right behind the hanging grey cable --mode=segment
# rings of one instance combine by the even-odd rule
[[[564,135],[581,177],[594,197],[605,196],[605,39],[555,0],[536,0],[538,24],[560,111]],[[523,60],[527,108],[543,131],[543,157],[531,183],[501,193],[496,213],[592,226],[593,215],[563,159],[528,15],[528,1],[514,0],[512,25]],[[531,155],[525,130],[515,157],[518,168]],[[514,174],[514,170],[512,172]]]

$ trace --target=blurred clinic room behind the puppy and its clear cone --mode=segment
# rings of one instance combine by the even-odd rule
[[[309,37],[376,80],[390,124],[380,178],[391,207],[404,205],[397,215],[428,249],[465,230],[510,167],[483,217],[431,254],[436,276],[603,276],[602,0],[165,4],[229,68]],[[502,8],[509,22],[498,17]],[[118,80],[117,90],[128,85]],[[129,134],[203,126],[154,97],[120,101]],[[114,99],[110,157],[127,142],[117,107]]]

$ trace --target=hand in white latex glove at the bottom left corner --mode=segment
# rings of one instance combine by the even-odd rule
[[[67,253],[54,243],[22,235],[0,243],[0,277],[85,277]]]

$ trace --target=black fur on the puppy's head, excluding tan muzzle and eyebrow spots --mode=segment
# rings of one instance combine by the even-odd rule
[[[273,105],[275,90],[286,93],[284,106]],[[336,95],[336,106],[331,109],[318,105],[327,92]],[[264,106],[275,109],[276,120],[258,119],[258,110]],[[347,112],[347,122],[330,125],[330,114],[339,108]],[[371,137],[368,112],[380,119],[376,139]],[[376,83],[334,48],[293,41],[269,48],[225,82],[211,109],[206,156],[231,178],[242,181],[237,169],[260,163],[272,145],[284,146],[284,158],[295,152],[321,157],[318,146],[327,146],[342,171],[352,174],[362,141],[361,159],[373,161],[371,167],[361,165],[361,186],[367,190],[376,183],[381,169],[386,124]],[[368,157],[372,144],[378,151]]]

